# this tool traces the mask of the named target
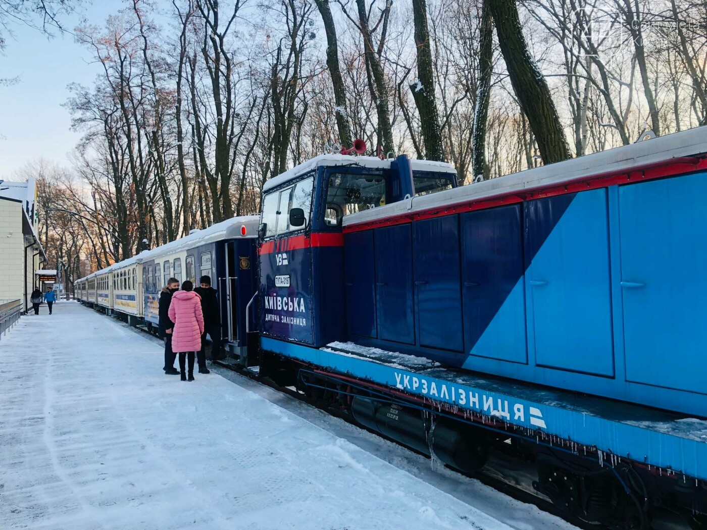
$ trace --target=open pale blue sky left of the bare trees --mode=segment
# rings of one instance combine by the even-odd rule
[[[121,0],[93,0],[61,21],[73,30],[83,19],[103,25],[111,13],[124,7]],[[90,53],[74,42],[71,33],[47,38],[27,25],[11,25],[0,55],[0,78],[18,77],[13,86],[0,86],[0,179],[11,180],[26,163],[44,158],[69,166],[68,155],[81,138],[71,131],[69,83],[90,84],[99,73]],[[55,32],[56,33],[56,32]]]

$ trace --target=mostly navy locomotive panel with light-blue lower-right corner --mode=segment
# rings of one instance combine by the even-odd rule
[[[465,351],[527,363],[520,205],[464,213],[461,222]]]

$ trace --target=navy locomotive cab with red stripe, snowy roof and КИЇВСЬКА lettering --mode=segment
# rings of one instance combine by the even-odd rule
[[[342,221],[457,186],[443,163],[322,155],[265,184],[260,245],[264,336],[325,346],[347,334]],[[371,293],[368,293],[369,295]],[[360,293],[366,296],[367,293]],[[370,314],[357,314],[366,326]]]

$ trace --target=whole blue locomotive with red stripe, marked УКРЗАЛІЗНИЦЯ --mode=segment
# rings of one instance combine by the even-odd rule
[[[706,170],[706,128],[467,187],[314,158],[263,189],[260,373],[464,471],[512,441],[585,521],[701,524]]]

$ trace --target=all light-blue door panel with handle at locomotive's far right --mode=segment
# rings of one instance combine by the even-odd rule
[[[706,195],[705,173],[619,188],[629,381],[707,394]]]

